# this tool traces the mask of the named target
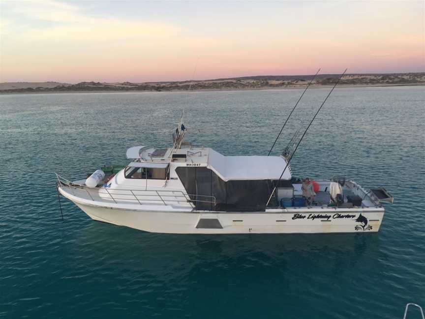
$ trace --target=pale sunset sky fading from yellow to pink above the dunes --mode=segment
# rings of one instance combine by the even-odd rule
[[[0,0],[0,82],[425,71],[425,1]]]

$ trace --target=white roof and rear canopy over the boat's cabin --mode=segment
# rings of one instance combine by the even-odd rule
[[[138,155],[141,147],[138,148],[133,149],[133,154]],[[140,153],[139,159],[145,163],[152,161],[169,162],[171,151],[171,148],[149,148]],[[211,148],[204,147],[182,147],[173,151],[172,156],[176,155],[184,155],[184,157],[173,158],[173,161],[185,162],[186,166],[191,166],[192,164],[206,166],[224,181],[278,180],[286,167],[286,160],[281,156],[224,156]],[[281,179],[291,179],[289,167],[285,169]]]

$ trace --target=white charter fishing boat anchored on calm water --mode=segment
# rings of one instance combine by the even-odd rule
[[[87,179],[57,174],[58,195],[95,221],[176,234],[372,233],[382,203],[394,200],[384,187],[366,191],[333,177],[315,180],[306,203],[288,148],[280,156],[224,156],[184,141],[187,131],[181,121],[171,147],[131,147],[127,165]]]

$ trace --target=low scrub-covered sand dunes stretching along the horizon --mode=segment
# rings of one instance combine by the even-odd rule
[[[88,91],[185,91],[185,90],[261,90],[305,87],[313,75],[259,75],[228,79],[180,82],[106,83],[15,82],[0,83],[0,93],[55,93]],[[338,74],[320,74],[312,87],[333,85]],[[425,85],[425,73],[347,74],[340,86]]]

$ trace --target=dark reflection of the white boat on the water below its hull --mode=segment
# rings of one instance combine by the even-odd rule
[[[232,266],[284,269],[313,263],[334,271],[358,263],[376,266],[379,261],[368,256],[376,255],[379,246],[379,233],[176,235],[91,222],[78,232],[69,253],[87,266],[187,275],[196,268]]]

